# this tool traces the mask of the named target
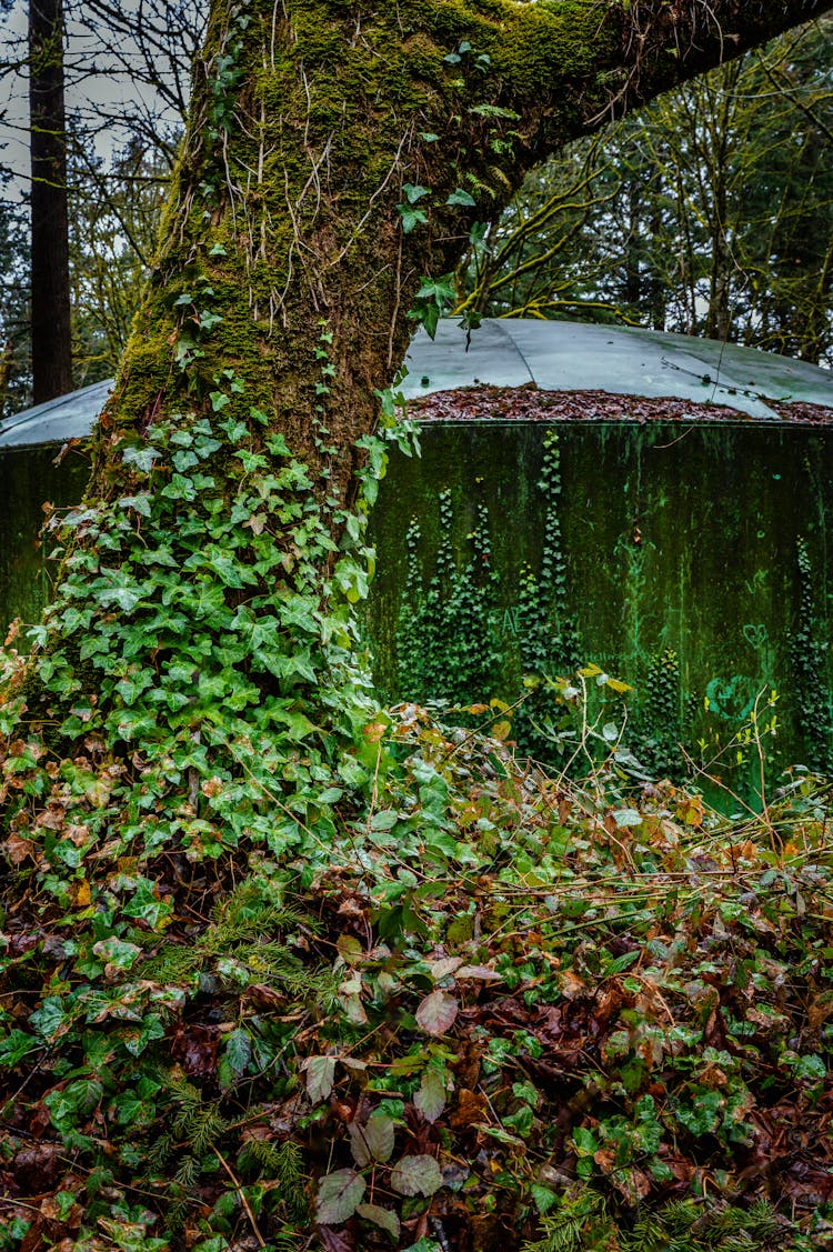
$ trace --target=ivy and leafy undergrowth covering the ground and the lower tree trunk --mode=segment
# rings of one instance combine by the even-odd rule
[[[0,1249],[830,1244],[828,793],[380,709],[361,513],[234,382],[116,436],[4,655]]]

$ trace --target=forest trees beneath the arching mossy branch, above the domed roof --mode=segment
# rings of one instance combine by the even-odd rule
[[[458,275],[491,317],[621,318],[830,349],[829,19],[532,170]]]

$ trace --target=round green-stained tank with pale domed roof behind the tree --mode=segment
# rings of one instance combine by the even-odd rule
[[[738,734],[717,767],[754,769],[755,701],[773,765],[828,765],[823,371],[511,319],[486,322],[470,346],[443,321],[433,342],[416,337],[408,366],[425,456],[393,454],[372,517],[368,622],[388,695],[514,699],[530,672],[592,661],[634,686],[628,740],[653,772],[681,771],[680,741],[708,764]],[[78,449],[59,466],[60,444],[21,449],[84,438],[106,386],[0,429],[0,629],[38,620],[51,547],[36,538],[41,505],[78,502],[86,472]],[[534,694],[514,715],[519,742],[551,752],[547,717]]]

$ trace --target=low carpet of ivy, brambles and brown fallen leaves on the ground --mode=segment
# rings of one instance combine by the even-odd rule
[[[10,839],[0,1247],[833,1246],[819,785],[730,821],[415,705],[352,769],[294,841],[104,849],[118,925]]]

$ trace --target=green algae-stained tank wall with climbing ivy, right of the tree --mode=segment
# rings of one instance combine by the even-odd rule
[[[372,517],[370,635],[390,696],[515,700],[531,592],[550,639],[534,667],[562,675],[577,652],[633,685],[625,742],[654,771],[684,767],[681,740],[710,772],[754,775],[755,706],[775,770],[828,765],[828,429],[426,423],[421,443],[421,459],[392,456]],[[544,591],[542,562],[560,562]]]

